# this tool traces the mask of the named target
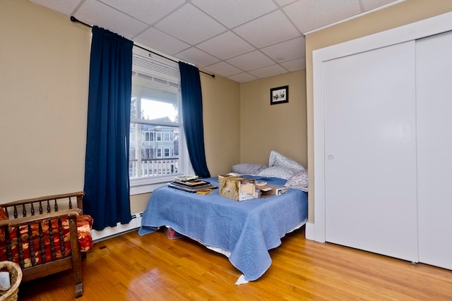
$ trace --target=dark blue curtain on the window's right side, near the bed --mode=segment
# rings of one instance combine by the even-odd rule
[[[197,176],[209,178],[203,128],[203,96],[199,69],[179,61],[181,73],[182,118],[191,165]]]

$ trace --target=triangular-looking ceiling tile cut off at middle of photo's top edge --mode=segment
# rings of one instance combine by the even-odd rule
[[[246,23],[278,8],[273,1],[262,0],[192,0],[191,3],[229,28]]]

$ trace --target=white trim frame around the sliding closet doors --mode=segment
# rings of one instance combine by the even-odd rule
[[[360,52],[388,47],[452,30],[452,12],[353,39],[313,51],[314,86],[314,227],[307,238],[325,242],[325,120],[323,114],[323,62]],[[313,233],[312,233],[313,232]]]

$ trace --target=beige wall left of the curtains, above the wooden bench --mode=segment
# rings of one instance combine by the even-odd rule
[[[83,190],[90,30],[0,0],[0,202]]]

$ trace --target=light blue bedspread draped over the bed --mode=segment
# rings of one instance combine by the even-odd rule
[[[263,179],[283,186],[286,180]],[[204,179],[218,185],[218,178]],[[229,260],[246,281],[261,277],[270,267],[268,250],[281,244],[280,238],[307,221],[307,193],[289,189],[284,195],[242,202],[221,197],[218,189],[208,195],[162,187],[154,190],[143,212],[138,233],[145,235],[169,226],[204,245],[230,252]]]

